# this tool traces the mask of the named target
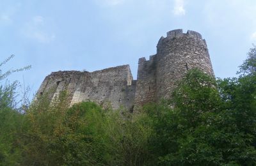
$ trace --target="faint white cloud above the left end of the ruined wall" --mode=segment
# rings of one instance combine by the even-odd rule
[[[37,15],[31,19],[22,29],[26,38],[36,40],[40,43],[51,43],[56,39],[54,32],[49,29],[51,24],[45,23],[44,17]]]

